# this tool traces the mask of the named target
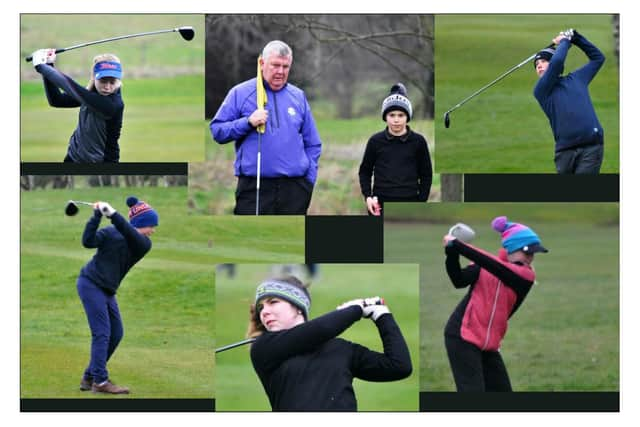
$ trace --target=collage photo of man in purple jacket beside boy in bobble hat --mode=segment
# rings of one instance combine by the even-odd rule
[[[385,200],[438,200],[433,27],[433,15],[207,15],[207,161],[190,171],[201,209],[374,215]]]

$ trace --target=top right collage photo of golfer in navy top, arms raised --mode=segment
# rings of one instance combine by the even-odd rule
[[[437,172],[619,172],[619,15],[443,14],[435,38]]]

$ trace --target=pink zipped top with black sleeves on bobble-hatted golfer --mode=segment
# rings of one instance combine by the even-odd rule
[[[449,318],[445,334],[459,336],[483,351],[499,350],[508,320],[533,286],[535,272],[529,265],[507,261],[504,249],[496,257],[453,240],[445,252],[447,273],[453,285],[470,286]],[[459,255],[473,263],[461,269]]]

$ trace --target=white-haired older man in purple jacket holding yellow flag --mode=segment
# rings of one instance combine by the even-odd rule
[[[216,142],[235,141],[237,215],[304,215],[311,202],[322,142],[304,92],[288,83],[292,62],[286,43],[269,42],[259,59],[264,108],[254,78],[234,86],[211,121]]]

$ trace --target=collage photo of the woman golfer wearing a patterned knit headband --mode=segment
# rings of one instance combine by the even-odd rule
[[[415,264],[218,265],[216,410],[417,411],[418,313]]]

